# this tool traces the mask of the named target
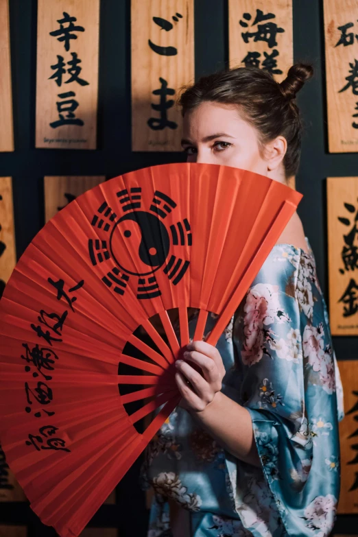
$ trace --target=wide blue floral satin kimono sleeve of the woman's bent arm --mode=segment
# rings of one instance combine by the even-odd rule
[[[235,318],[241,404],[293,536],[328,536],[339,498],[343,415],[325,308],[313,256],[287,245],[267,258]]]

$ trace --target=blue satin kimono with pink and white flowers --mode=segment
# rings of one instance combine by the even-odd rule
[[[188,537],[328,536],[343,390],[310,247],[274,246],[217,348],[222,391],[250,412],[261,467],[176,407],[145,453],[143,483],[155,491],[148,537],[171,536],[168,498],[189,512]]]

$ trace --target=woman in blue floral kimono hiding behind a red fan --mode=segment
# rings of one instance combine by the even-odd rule
[[[281,84],[254,68],[200,79],[180,97],[188,160],[287,182],[300,159],[294,98],[311,75],[295,64]],[[148,536],[328,536],[342,384],[297,213],[217,347],[192,342],[176,368],[180,407],[146,453]]]

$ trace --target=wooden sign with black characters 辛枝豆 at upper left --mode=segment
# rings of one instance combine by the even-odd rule
[[[36,147],[95,149],[99,0],[38,0]]]

